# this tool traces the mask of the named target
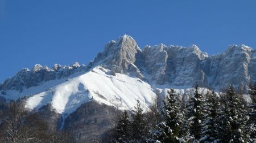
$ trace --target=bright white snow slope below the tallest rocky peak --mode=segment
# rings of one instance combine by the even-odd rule
[[[105,68],[95,67],[84,75],[28,98],[26,107],[32,110],[51,103],[56,112],[70,114],[82,103],[93,98],[100,103],[127,110],[133,109],[139,99],[147,109],[155,98],[156,94],[151,86],[137,77],[120,73],[113,76],[108,73],[109,70]]]

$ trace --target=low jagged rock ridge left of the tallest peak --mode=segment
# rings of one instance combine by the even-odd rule
[[[61,66],[54,64],[52,68],[35,64],[32,70],[23,68],[15,76],[10,77],[0,85],[0,90],[19,90],[30,88],[31,86],[40,85],[49,80],[61,79],[68,77],[73,73],[86,71],[86,66],[80,66],[79,63],[74,63],[71,66]],[[4,93],[4,92],[3,92]]]

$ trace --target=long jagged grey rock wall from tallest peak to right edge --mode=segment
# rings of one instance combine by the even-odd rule
[[[232,45],[221,54],[208,56],[196,45],[147,46],[143,49],[144,67],[156,84],[191,86],[199,83],[213,89],[229,84],[246,86],[255,81],[255,50]]]

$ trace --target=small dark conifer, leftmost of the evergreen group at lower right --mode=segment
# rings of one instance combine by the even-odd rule
[[[114,132],[114,140],[116,142],[129,142],[131,135],[131,121],[126,110],[123,112],[121,119],[118,120]]]

